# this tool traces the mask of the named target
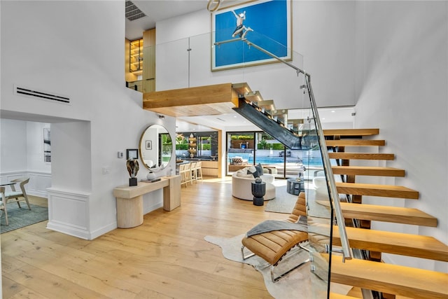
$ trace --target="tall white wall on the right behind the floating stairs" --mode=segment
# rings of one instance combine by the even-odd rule
[[[386,166],[406,169],[404,178],[384,181],[420,193],[419,200],[384,203],[415,207],[439,221],[437,228],[389,228],[447,244],[448,2],[358,1],[356,17],[356,127],[379,127],[386,139],[381,151],[396,155]],[[387,258],[448,271],[446,263]]]

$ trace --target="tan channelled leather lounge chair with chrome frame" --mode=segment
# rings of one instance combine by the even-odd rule
[[[298,221],[300,216],[307,216],[306,200],[304,193],[300,193],[295,202],[295,207],[286,219],[290,223]],[[309,262],[309,259],[302,261],[299,265],[296,265],[292,269],[283,272],[278,277],[275,277],[274,270],[279,262],[286,254],[295,246],[300,246],[304,242],[308,241],[308,233],[300,230],[274,230],[272,232],[262,232],[258,235],[251,237],[244,237],[241,239],[241,256],[243,260],[250,258],[251,256],[260,256],[263,260],[271,265],[271,279],[272,282],[279,281],[282,277],[285,277],[291,271],[301,267],[305,263]],[[244,248],[251,251],[250,254],[244,253]],[[300,249],[307,250],[304,246],[300,246]]]

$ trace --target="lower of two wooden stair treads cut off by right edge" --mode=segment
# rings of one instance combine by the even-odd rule
[[[327,258],[328,255],[324,255]],[[411,298],[448,298],[448,274],[332,256],[331,281]]]

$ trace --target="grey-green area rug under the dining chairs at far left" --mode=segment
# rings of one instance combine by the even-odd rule
[[[17,230],[27,225],[38,223],[48,220],[48,208],[41,207],[36,204],[30,204],[31,210],[28,209],[26,202],[20,202],[22,209],[18,207],[16,202],[9,202],[6,206],[8,211],[9,225],[6,225],[5,214],[1,211],[0,218],[0,231],[10,232],[11,230]]]

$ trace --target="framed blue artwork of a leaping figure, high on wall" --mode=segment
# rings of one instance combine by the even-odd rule
[[[277,61],[244,40],[288,60],[290,1],[256,1],[220,10],[212,18],[212,36],[212,70]]]

